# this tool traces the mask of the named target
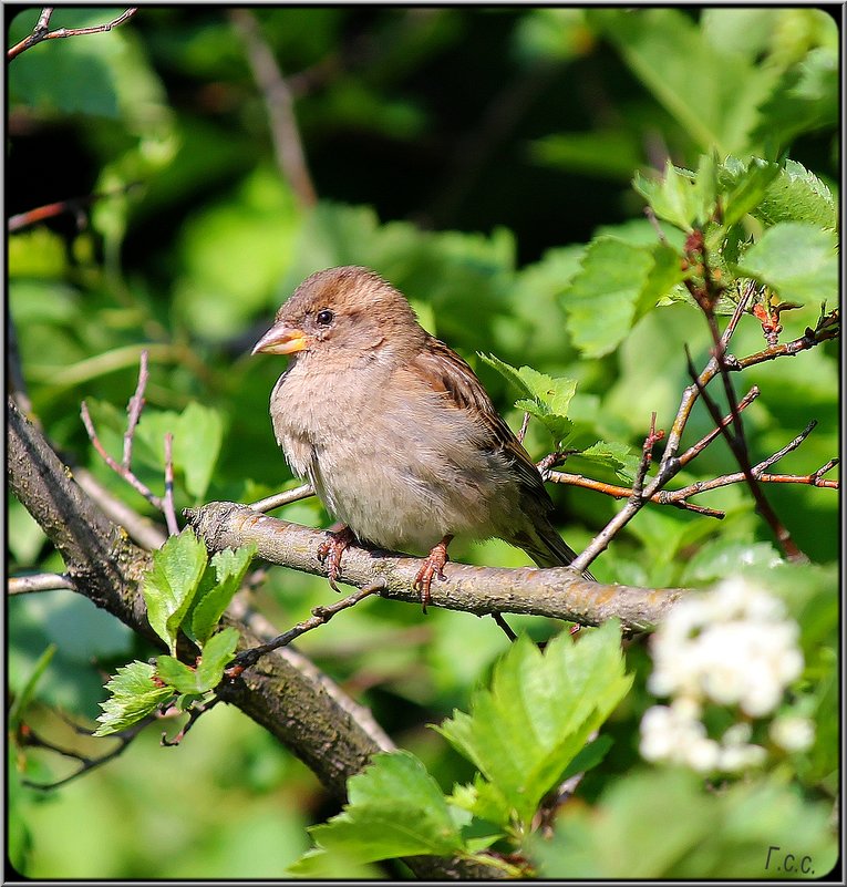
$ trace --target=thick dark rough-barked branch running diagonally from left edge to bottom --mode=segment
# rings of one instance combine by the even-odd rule
[[[76,590],[162,646],[147,622],[138,588],[138,579],[151,563],[149,554],[133,545],[126,533],[96,507],[41,432],[11,399],[7,403],[7,472],[12,492],[64,558]],[[224,622],[240,632],[239,650],[261,643],[262,639],[244,623],[229,616]],[[384,744],[357,722],[354,703],[342,706],[337,702],[343,692],[340,688],[328,692],[327,675],[318,678],[314,666],[300,669],[296,662],[295,651],[276,651],[240,678],[221,685],[219,697],[265,726],[333,795],[343,798],[347,780],[361,772]],[[419,878],[502,877],[495,868],[464,859],[427,856],[406,862]]]

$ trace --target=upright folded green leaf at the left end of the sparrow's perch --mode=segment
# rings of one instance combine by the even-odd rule
[[[147,619],[172,653],[176,652],[176,635],[203,577],[206,560],[206,546],[186,528],[154,551],[153,567],[142,579]]]

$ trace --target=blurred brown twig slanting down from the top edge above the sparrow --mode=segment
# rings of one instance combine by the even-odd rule
[[[306,162],[291,91],[277,65],[270,47],[261,37],[254,13],[248,9],[233,9],[229,18],[244,40],[254,78],[262,93],[270,120],[270,134],[273,140],[277,166],[291,186],[300,206],[303,208],[314,206],[318,195]]]

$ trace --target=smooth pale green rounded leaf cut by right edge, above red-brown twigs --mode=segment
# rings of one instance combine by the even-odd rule
[[[766,283],[783,301],[838,299],[836,235],[808,223],[783,221],[768,228],[742,256],[738,270]]]

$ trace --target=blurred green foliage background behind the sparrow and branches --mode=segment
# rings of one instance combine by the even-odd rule
[[[56,8],[51,27],[102,23],[120,11]],[[9,22],[9,45],[38,12]],[[43,42],[8,68],[9,210],[82,198],[9,237],[9,312],[33,412],[69,463],[142,514],[157,517],[94,453],[80,402],[120,458],[122,411],[146,349],[151,379],[133,464],[154,492],[165,431],[175,433],[177,508],[251,502],[293,484],[267,413],[281,362],[248,353],[277,306],[318,268],[369,265],[399,286],[424,324],[478,371],[513,427],[516,392],[479,352],[559,388],[576,383],[562,410],[569,445],[597,448],[566,470],[610,483],[631,468],[651,412],[660,427],[673,421],[690,381],[683,344],[698,365],[707,358],[705,323],[679,298],[676,258],[719,195],[724,217],[706,236],[723,238],[714,249],[721,270],[730,280],[754,275],[804,303],[782,316],[784,341],[815,327],[822,300],[833,307],[840,78],[837,24],[825,11],[337,7],[255,16],[295,97],[320,195],[311,208],[278,173],[262,97],[226,8],[141,8],[109,33]],[[644,199],[667,243],[642,217]],[[744,317],[733,352],[764,345],[761,326]],[[837,341],[734,381],[738,391],[762,389],[744,413],[754,461],[813,419],[814,433],[778,470],[808,474],[838,453]],[[555,417],[554,433],[565,430],[543,398],[533,403]],[[699,405],[683,445],[711,426]],[[539,458],[555,442],[533,421],[526,444]],[[717,441],[678,482],[735,467]],[[619,508],[585,489],[550,492],[576,548]],[[767,527],[746,491],[729,486],[696,499],[725,509],[724,520],[648,507],[592,571],[673,585],[706,584],[743,563],[758,570],[803,626],[808,687],[798,692],[816,723],[815,747],[720,797],[688,776],[632,772],[650,704],[636,643],[627,657],[636,682],[605,728],[611,751],[588,772],[554,843],[524,847],[541,874],[632,875],[632,859],[643,858],[645,877],[720,877],[729,859],[737,876],[762,877],[767,844],[787,846],[793,836],[807,836],[825,867],[822,811],[838,784],[838,494],[788,484],[766,493],[823,567],[773,570]],[[283,515],[328,523],[313,499]],[[61,571],[24,509],[10,501],[7,516],[10,571]],[[452,555],[525,563],[498,542],[456,545]],[[330,592],[322,579],[276,569],[252,594],[285,628]],[[56,710],[93,726],[103,674],[154,652],[66,591],[14,598],[8,615],[16,719],[60,745],[82,740]],[[509,622],[536,641],[560,628]],[[369,704],[442,787],[473,781],[469,763],[425,725],[466,710],[504,652],[490,620],[437,610],[422,619],[414,608],[369,600],[299,647]],[[89,741],[85,751],[99,755],[112,742]],[[121,757],[47,794],[21,778],[50,782],[70,765],[12,743],[9,754],[10,858],[28,877],[275,878],[308,849],[304,827],[338,813],[302,765],[221,706],[180,747],[159,747],[147,730]],[[773,815],[754,826],[764,809]],[[668,811],[684,863],[659,854],[668,840],[655,817]],[[738,823],[732,840],[710,835],[715,821]],[[620,835],[616,856],[607,822]],[[341,854],[322,870],[401,871],[354,863]]]

